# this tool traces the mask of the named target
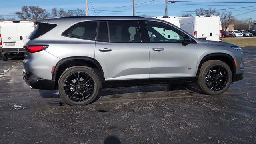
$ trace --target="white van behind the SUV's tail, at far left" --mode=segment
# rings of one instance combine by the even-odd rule
[[[24,56],[23,40],[33,30],[33,21],[0,21],[0,52],[4,61],[8,60],[10,56]]]

